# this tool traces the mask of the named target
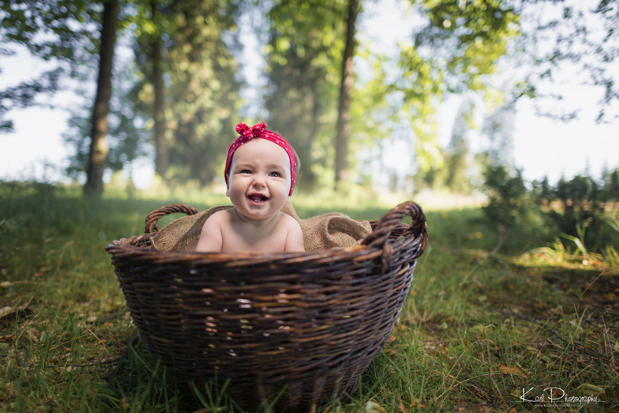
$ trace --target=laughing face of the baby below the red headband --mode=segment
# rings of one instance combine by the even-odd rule
[[[274,217],[290,197],[290,159],[275,142],[254,138],[236,149],[226,195],[249,219]]]

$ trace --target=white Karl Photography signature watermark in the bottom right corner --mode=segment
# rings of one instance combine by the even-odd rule
[[[521,391],[522,390],[522,393]],[[582,406],[582,404],[590,403],[604,403],[599,400],[599,396],[604,395],[604,389],[592,385],[581,385],[576,388],[581,394],[579,396],[571,396],[565,390],[560,387],[548,387],[542,391],[537,390],[535,387],[530,389],[522,388],[516,390],[519,400],[516,402],[531,402],[534,406],[563,406],[563,407],[576,407]]]

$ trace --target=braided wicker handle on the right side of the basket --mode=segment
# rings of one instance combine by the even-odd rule
[[[425,251],[428,241],[428,225],[426,224],[425,213],[417,202],[402,202],[402,204],[399,204],[394,209],[387,212],[378,224],[376,224],[373,232],[361,242],[362,245],[367,245],[368,247],[375,246],[383,248],[384,266],[388,261],[391,261],[392,247],[391,244],[387,242],[389,235],[397,228],[397,224],[399,224],[406,215],[409,215],[413,222],[402,235],[409,235],[412,233],[415,237],[419,237],[420,235],[423,237],[422,245],[413,259],[419,258],[423,254],[423,251]],[[384,270],[386,270],[386,268],[384,268]]]

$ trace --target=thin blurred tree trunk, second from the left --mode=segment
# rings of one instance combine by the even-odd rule
[[[152,20],[155,27],[160,27],[158,24],[159,6],[157,0],[150,2],[152,9]],[[153,131],[153,141],[155,141],[155,149],[157,150],[157,159],[155,159],[155,171],[165,181],[165,173],[168,170],[170,163],[170,155],[168,154],[168,144],[165,140],[165,115],[163,113],[163,70],[161,58],[161,36],[157,33],[153,40],[152,53],[152,84],[155,89],[155,105],[153,108],[153,118],[155,120],[155,128]]]

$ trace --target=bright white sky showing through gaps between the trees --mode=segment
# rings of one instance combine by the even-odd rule
[[[256,10],[241,16],[240,40],[243,43],[243,53],[235,56],[243,64],[243,76],[248,87],[241,90],[241,96],[248,101],[256,101],[259,90],[266,82],[261,70],[265,66],[261,57],[262,45],[251,29],[259,20]],[[243,24],[243,22],[247,24]],[[364,13],[358,22],[360,43],[371,50],[380,50],[386,54],[397,54],[397,41],[409,41],[410,33],[422,24],[420,17],[407,13],[396,0],[379,0],[365,2]],[[37,76],[44,70],[54,67],[38,58],[33,58],[25,49],[15,48],[15,56],[0,56],[0,89],[16,85],[20,81]],[[126,46],[119,48],[119,59],[130,59],[131,52]],[[504,76],[514,76],[509,63],[506,64]],[[362,75],[363,67],[358,67]],[[517,74],[516,74],[517,76]],[[516,105],[514,119],[514,160],[516,166],[523,169],[527,180],[539,180],[548,176],[555,182],[561,176],[571,177],[583,173],[587,168],[594,176],[599,176],[602,168],[619,167],[619,128],[615,123],[595,123],[602,90],[590,85],[582,85],[586,80],[582,74],[567,67],[556,77],[553,84],[541,85],[549,93],[562,93],[563,100],[531,100],[521,98]],[[540,89],[542,90],[542,89]],[[456,112],[464,98],[473,98],[478,103],[475,121],[482,124],[486,113],[479,97],[452,95],[438,108],[438,142],[446,146],[451,137],[452,125]],[[54,109],[48,107],[33,107],[24,110],[13,110],[7,117],[14,121],[15,133],[0,135],[0,143],[4,150],[0,151],[0,179],[28,179],[32,177],[46,180],[63,180],[62,168],[71,148],[63,141],[63,133],[67,131],[67,120],[70,108],[82,97],[70,90],[58,93],[51,98]],[[536,115],[536,111],[558,109],[560,105],[574,108],[577,118],[568,123],[552,120]],[[539,108],[541,107],[541,108]],[[259,107],[248,107],[246,113],[255,114]],[[264,115],[264,112],[261,113]],[[240,119],[241,121],[242,119]],[[469,132],[471,149],[483,149],[484,140],[480,129]],[[386,159],[396,155],[402,157],[402,152],[410,152],[402,141],[394,139],[383,150]],[[403,157],[402,159],[412,159]],[[402,162],[399,173],[410,173],[414,165]],[[153,162],[148,159],[137,160],[132,165],[132,178],[136,186],[145,188],[153,180]],[[378,171],[378,169],[377,169]],[[385,176],[377,172],[378,181],[384,181]],[[384,174],[383,174],[384,175]],[[108,178],[108,176],[106,176]]]

